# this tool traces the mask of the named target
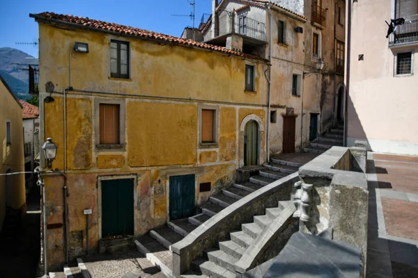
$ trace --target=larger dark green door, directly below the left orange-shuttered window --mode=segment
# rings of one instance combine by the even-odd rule
[[[102,237],[134,234],[134,179],[102,181]]]

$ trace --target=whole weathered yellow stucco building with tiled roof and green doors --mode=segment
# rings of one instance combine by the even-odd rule
[[[102,238],[139,236],[194,213],[238,167],[265,161],[267,60],[93,19],[31,17],[40,142],[53,138],[52,166],[67,177],[70,259],[86,252],[84,209],[97,248]],[[56,266],[65,261],[64,181],[56,173],[44,181],[48,264]]]

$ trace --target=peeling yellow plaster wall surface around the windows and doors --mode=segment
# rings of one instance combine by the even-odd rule
[[[109,77],[111,39],[130,42],[131,79]],[[250,61],[255,66],[256,92],[248,93],[244,92],[244,58],[40,24],[40,84],[52,81],[55,86],[52,94],[40,86],[40,99],[54,97],[40,105],[40,140],[52,137],[59,147],[54,168],[64,167],[62,90],[69,85],[68,54],[76,41],[88,42],[89,53],[72,54],[74,90],[67,94],[71,259],[86,252],[85,208],[93,209],[89,245],[91,250],[98,247],[100,179],[135,177],[134,236],[140,236],[169,220],[169,177],[195,174],[195,203],[201,204],[235,181],[243,156],[242,120],[257,117],[263,130],[267,124],[265,65],[257,60]],[[100,101],[121,104],[125,121],[121,149],[96,147]],[[199,107],[203,105],[219,111],[217,142],[209,148],[199,145]],[[264,131],[261,136],[260,164],[265,161]],[[210,192],[199,192],[203,182],[211,183]],[[63,179],[46,177],[45,184],[47,224],[62,224]],[[49,266],[57,267],[64,261],[63,228],[49,229],[47,236]]]

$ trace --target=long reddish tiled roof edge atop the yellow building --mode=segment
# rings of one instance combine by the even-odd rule
[[[226,47],[218,47],[212,44],[206,44],[203,42],[195,42],[194,40],[184,40],[172,35],[164,35],[162,33],[155,33],[153,31],[147,31],[141,28],[135,28],[131,26],[124,26],[121,24],[110,23],[110,22],[102,22],[96,19],[90,19],[88,17],[77,17],[74,15],[59,15],[56,13],[38,13],[38,14],[30,14],[30,17],[38,19],[38,22],[42,23],[63,23],[63,24],[77,24],[80,28],[95,28],[97,31],[107,31],[107,32],[114,32],[114,33],[121,33],[122,35],[128,36],[135,36],[140,38],[151,38],[155,40],[165,41],[169,44],[178,44],[185,47],[198,47],[201,49],[208,49],[212,51],[218,51],[225,54],[231,54],[234,56],[240,57],[247,57],[253,58],[258,60],[265,60],[264,58],[260,58],[259,56],[251,55],[251,54],[244,54],[242,52],[233,51],[231,49],[227,49]],[[73,25],[74,26],[74,25]],[[265,60],[267,61],[267,60]]]

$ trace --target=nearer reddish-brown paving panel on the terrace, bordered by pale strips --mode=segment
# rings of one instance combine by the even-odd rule
[[[387,234],[418,240],[418,203],[382,197]]]

